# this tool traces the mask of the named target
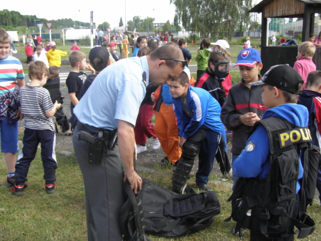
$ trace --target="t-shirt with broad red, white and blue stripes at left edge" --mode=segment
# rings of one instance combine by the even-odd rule
[[[13,92],[17,85],[17,79],[24,79],[25,74],[19,59],[7,56],[0,59],[0,94]]]

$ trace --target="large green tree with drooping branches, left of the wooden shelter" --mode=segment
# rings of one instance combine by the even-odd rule
[[[228,32],[232,38],[237,26],[242,29],[250,23],[247,11],[252,7],[252,0],[171,0],[171,3],[182,26],[202,37],[216,38],[218,32]]]

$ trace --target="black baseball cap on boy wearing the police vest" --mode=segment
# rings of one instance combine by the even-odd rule
[[[268,84],[278,89],[285,90],[292,94],[296,94],[299,89],[299,83],[303,84],[303,80],[295,69],[287,64],[272,66],[262,77],[262,80],[249,83],[250,85]]]

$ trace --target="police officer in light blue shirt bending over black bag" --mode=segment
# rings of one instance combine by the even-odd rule
[[[142,184],[133,165],[133,127],[146,85],[176,78],[184,65],[182,51],[171,45],[123,59],[101,71],[75,107],[73,145],[85,185],[88,240],[121,240],[123,181],[128,179],[134,193]],[[112,150],[116,131],[118,146]]]

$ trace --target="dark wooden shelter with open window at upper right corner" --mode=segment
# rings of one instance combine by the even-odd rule
[[[297,56],[297,46],[268,46],[267,18],[303,18],[302,42],[308,41],[313,33],[314,14],[321,13],[321,0],[263,0],[249,13],[262,13],[261,58],[264,74],[271,66],[289,64],[293,67]],[[318,34],[318,33],[315,33]],[[321,47],[317,47],[313,58],[318,70],[321,70]]]

